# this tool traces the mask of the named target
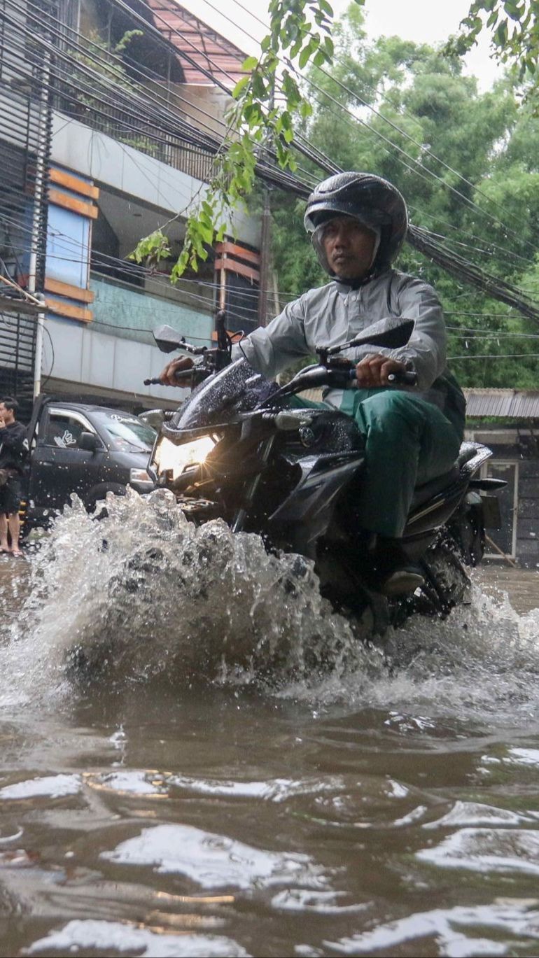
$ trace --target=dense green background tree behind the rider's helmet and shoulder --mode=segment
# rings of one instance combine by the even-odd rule
[[[311,142],[345,170],[387,177],[405,195],[413,223],[461,256],[538,289],[539,121],[531,104],[519,105],[514,73],[480,93],[459,57],[399,37],[369,42],[357,7],[334,38],[331,69],[308,75],[316,84],[304,129]],[[327,282],[303,230],[304,204],[291,210],[290,198],[274,193],[273,211],[279,286],[292,295]],[[408,244],[396,265],[436,287],[449,354],[463,356],[451,360],[462,384],[537,388],[536,326]]]

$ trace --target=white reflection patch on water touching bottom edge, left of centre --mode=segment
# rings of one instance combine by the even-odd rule
[[[68,922],[59,931],[50,931],[39,938],[23,954],[42,951],[95,949],[140,955],[140,958],[249,958],[244,947],[223,935],[167,935],[149,928],[137,928],[121,922],[87,919]]]

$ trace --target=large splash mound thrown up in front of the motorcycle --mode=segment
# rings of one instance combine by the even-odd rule
[[[269,555],[221,520],[197,528],[166,492],[110,496],[101,521],[75,499],[35,556],[0,672],[19,694],[71,677],[129,683],[311,680],[381,656],[318,591],[313,564]],[[3,689],[9,695],[9,688]],[[1,687],[0,687],[1,688]]]

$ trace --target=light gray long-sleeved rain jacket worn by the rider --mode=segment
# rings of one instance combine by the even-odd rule
[[[396,269],[387,269],[358,289],[335,281],[310,289],[265,329],[251,332],[241,346],[234,347],[232,357],[239,359],[243,354],[253,369],[273,378],[301,356],[315,354],[317,346],[338,346],[390,316],[414,320],[405,347],[363,346],[342,355],[358,363],[366,355],[380,353],[408,363],[417,373],[416,395],[419,390],[423,399],[434,402],[461,433],[465,399],[446,367],[446,331],[439,300],[432,286]],[[341,399],[341,390],[324,394],[324,400],[337,408]]]

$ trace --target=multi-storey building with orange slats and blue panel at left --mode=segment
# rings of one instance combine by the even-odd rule
[[[210,346],[220,306],[230,329],[257,325],[259,217],[169,279],[244,58],[174,0],[1,0],[1,393],[174,405],[144,386],[163,366],[153,328]],[[161,227],[171,256],[129,259]]]

